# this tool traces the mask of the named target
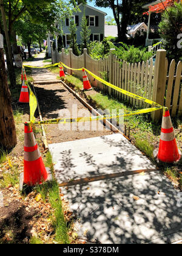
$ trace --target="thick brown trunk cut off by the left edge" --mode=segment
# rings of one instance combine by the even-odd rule
[[[5,72],[3,49],[0,49],[0,146],[10,151],[17,144],[10,90]]]

